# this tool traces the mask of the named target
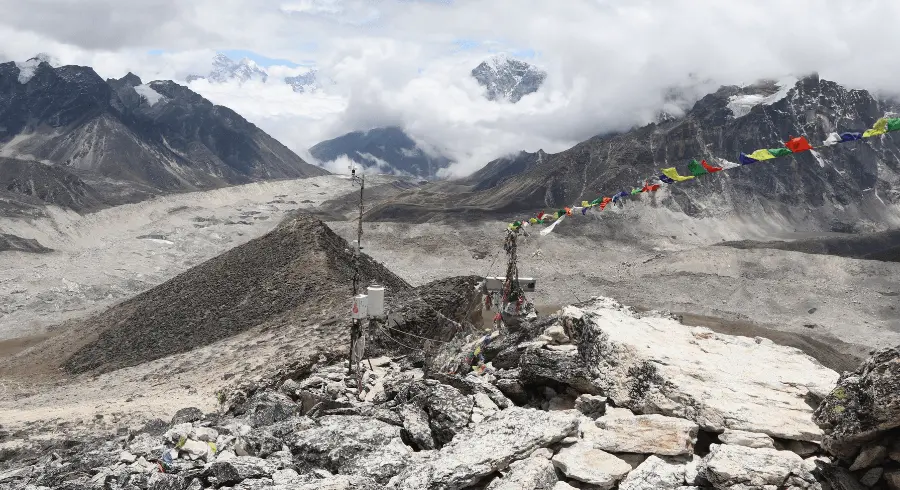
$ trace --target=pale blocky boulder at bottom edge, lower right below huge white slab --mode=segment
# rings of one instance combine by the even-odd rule
[[[777,449],[713,444],[698,467],[718,489],[810,488],[817,484],[803,458]]]

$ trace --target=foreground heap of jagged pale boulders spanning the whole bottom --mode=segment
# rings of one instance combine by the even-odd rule
[[[424,349],[374,348],[361,376],[339,356],[291,360],[215,411],[24,441],[0,488],[900,488],[897,349],[839,377],[605,298]]]

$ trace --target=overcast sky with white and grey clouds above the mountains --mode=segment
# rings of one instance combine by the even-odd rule
[[[649,122],[670,87],[701,95],[818,71],[900,91],[897,0],[0,0],[0,12],[0,59],[46,52],[103,77],[183,81],[217,52],[250,54],[274,82],[191,88],[301,155],[399,125],[456,174]],[[484,99],[468,74],[498,52],[546,70],[541,90]],[[279,83],[310,66],[334,85]]]

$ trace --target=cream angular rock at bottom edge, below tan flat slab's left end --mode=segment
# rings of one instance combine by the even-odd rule
[[[632,469],[626,461],[581,442],[560,449],[553,465],[566,477],[602,490],[614,487]]]

